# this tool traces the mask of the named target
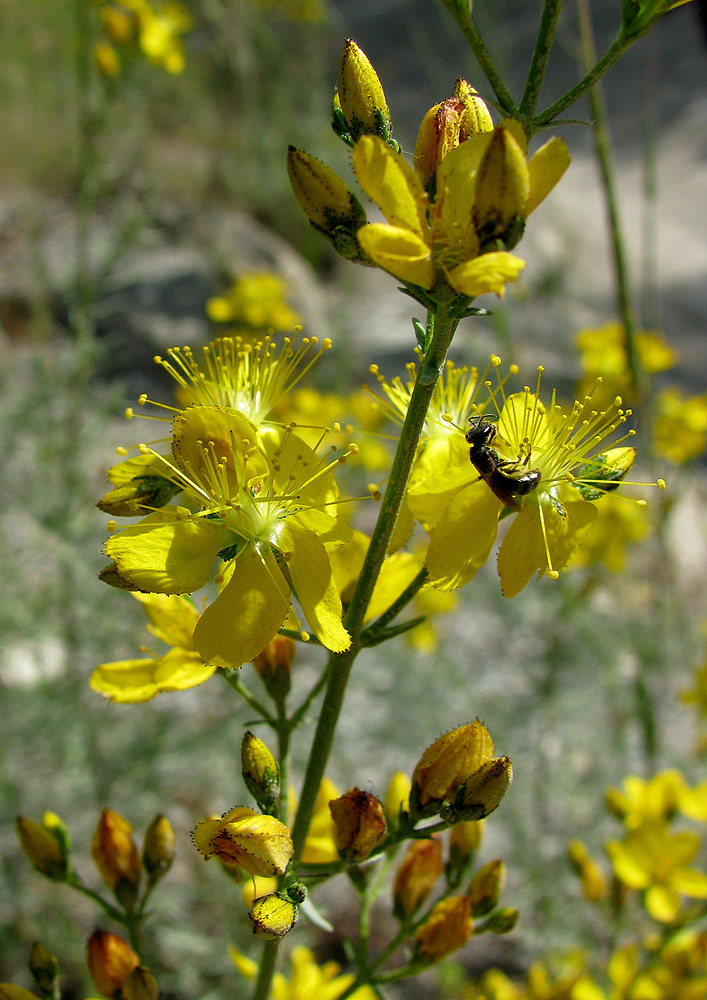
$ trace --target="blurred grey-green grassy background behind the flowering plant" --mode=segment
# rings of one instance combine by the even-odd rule
[[[238,279],[276,275],[273,294],[306,333],[333,338],[317,375],[332,396],[365,382],[372,362],[390,376],[410,360],[419,308],[392,278],[337,258],[287,180],[290,143],[351,179],[328,125],[343,40],[372,60],[408,151],[457,77],[492,95],[434,0],[190,0],[170,8],[166,34],[155,28],[140,44],[116,39],[101,6],[4,0],[0,10],[0,979],[26,981],[39,939],[61,959],[66,1000],[86,995],[80,942],[95,911],[31,871],[13,820],[59,813],[90,877],[91,833],[109,805],[139,834],[156,812],[175,826],[177,862],[155,896],[149,964],[166,969],[165,996],[221,1000],[236,981],[227,943],[250,944],[244,910],[188,833],[203,815],[247,801],[238,751],[248,711],[222,698],[215,678],[136,706],[90,691],[98,663],[136,655],[145,641],[137,604],[96,579],[106,518],[93,504],[115,447],[133,440],[125,406],[143,391],[172,392],[153,355],[258,325],[242,299],[232,314],[209,306]],[[592,0],[600,52],[618,6]],[[541,8],[475,5],[516,97]],[[669,381],[684,394],[704,394],[707,369],[700,13],[692,3],[666,16],[605,80],[640,323],[677,351]],[[568,4],[541,106],[580,75]],[[523,280],[489,301],[492,316],[464,321],[453,357],[483,366],[498,352],[531,383],[542,363],[546,385],[571,396],[576,334],[617,314],[589,112],[581,102],[567,117],[584,124],[553,129],[573,163],[528,226]],[[394,771],[410,771],[435,737],[475,716],[514,761],[482,860],[505,860],[504,902],[521,920],[508,937],[472,943],[462,960],[472,971],[522,970],[550,930],[557,949],[591,943],[567,841],[581,835],[600,850],[611,833],[603,793],[624,775],[675,763],[691,780],[699,774],[695,715],[678,696],[704,655],[702,449],[671,464],[651,454],[650,433],[639,449],[638,478],[662,475],[670,489],[665,501],[651,498],[660,517],[641,545],[624,551],[619,539],[622,573],[578,568],[509,602],[492,560],[457,610],[434,619],[434,635],[396,640],[384,660],[372,651],[354,672],[330,768],[342,790],[382,795]],[[299,654],[301,690],[320,666],[316,650]],[[297,765],[311,731],[295,743]],[[348,930],[341,881],[329,915]],[[388,919],[381,914],[383,926]],[[335,935],[302,940],[342,959]],[[432,977],[397,989],[439,995]]]

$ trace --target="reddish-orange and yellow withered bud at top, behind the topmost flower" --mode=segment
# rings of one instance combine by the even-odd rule
[[[493,131],[488,108],[466,80],[457,80],[452,97],[436,104],[422,119],[413,163],[427,186],[442,160],[469,136]]]

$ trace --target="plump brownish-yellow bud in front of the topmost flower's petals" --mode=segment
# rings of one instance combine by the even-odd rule
[[[513,249],[522,235],[529,194],[525,153],[511,128],[499,125],[476,173],[474,225],[482,250],[496,241]]]

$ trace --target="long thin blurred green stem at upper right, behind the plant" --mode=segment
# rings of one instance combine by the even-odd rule
[[[592,30],[592,20],[589,13],[588,0],[579,0],[578,12],[580,35],[582,39],[582,56],[585,65],[591,66],[594,62],[596,62],[596,49],[594,45],[594,32]],[[636,356],[636,319],[633,305],[631,303],[626,251],[624,247],[623,233],[621,231],[618,199],[616,197],[616,185],[614,183],[613,166],[611,162],[611,139],[606,125],[606,104],[601,85],[597,83],[589,91],[588,96],[593,120],[592,128],[594,132],[594,149],[596,152],[597,162],[599,164],[602,187],[604,189],[604,201],[606,205],[609,235],[611,239],[614,276],[616,280],[617,308],[624,329],[626,364],[631,376],[631,386],[634,391],[636,391],[639,388],[640,380],[638,358]]]

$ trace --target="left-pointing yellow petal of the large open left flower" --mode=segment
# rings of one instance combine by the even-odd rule
[[[108,539],[106,554],[127,589],[190,594],[208,582],[216,553],[233,536],[208,521],[182,520],[179,511],[163,508]]]

